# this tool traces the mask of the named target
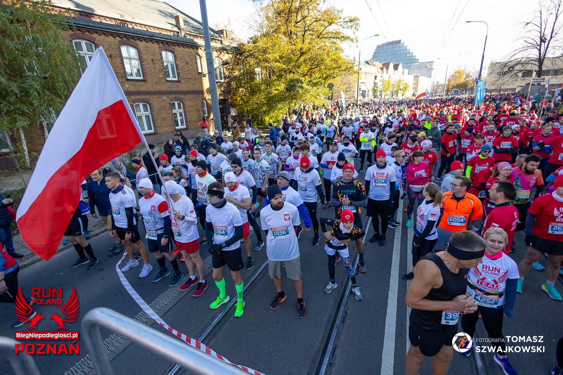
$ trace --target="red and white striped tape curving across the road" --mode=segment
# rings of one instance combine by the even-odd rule
[[[213,351],[209,346],[203,344],[203,342],[199,342],[198,340],[195,340],[195,338],[191,338],[189,336],[186,336],[186,335],[184,335],[184,333],[178,332],[178,331],[176,331],[176,329],[168,326],[168,324],[166,324],[166,322],[164,322],[164,320],[162,320],[158,316],[158,314],[155,313],[154,310],[150,308],[150,306],[145,302],[145,300],[143,300],[141,298],[141,296],[138,295],[138,293],[135,291],[135,289],[133,289],[131,284],[129,284],[129,282],[127,281],[127,278],[123,275],[123,272],[119,269],[119,264],[123,261],[123,259],[125,259],[126,256],[127,256],[127,252],[124,252],[121,259],[115,265],[115,270],[117,271],[117,274],[119,275],[119,279],[120,279],[121,283],[123,284],[123,286],[125,287],[125,290],[129,293],[129,295],[131,297],[133,297],[133,300],[135,300],[135,302],[137,302],[139,307],[143,311],[145,311],[145,313],[147,315],[149,315],[149,317],[151,317],[155,322],[160,324],[160,326],[168,329],[168,331],[172,332],[173,335],[181,338],[181,340],[185,341],[187,344],[195,347],[195,349],[201,350],[204,353],[211,355],[213,358],[217,358],[219,360],[222,360],[223,362],[227,362],[227,363],[230,363],[232,365],[235,365],[236,367],[239,367],[240,369],[242,369],[242,370],[244,370],[248,373],[251,373],[251,374],[254,374],[254,375],[264,375],[261,372],[255,371],[255,370],[253,370],[249,367],[244,367],[244,366],[241,366],[241,365],[238,365],[236,363],[231,362],[230,360],[226,359],[221,354],[218,354],[215,351]]]

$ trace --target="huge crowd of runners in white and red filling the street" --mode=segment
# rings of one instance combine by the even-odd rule
[[[324,236],[324,292],[337,288],[335,266],[342,261],[352,293],[361,300],[355,270],[367,272],[365,250],[385,246],[388,229],[405,225],[414,232],[413,270],[403,275],[410,281],[406,304],[412,308],[406,373],[418,374],[426,356],[434,357],[435,374],[446,373],[458,321],[472,335],[481,317],[489,337],[498,339],[495,362],[504,373],[516,374],[506,356],[502,321],[512,317],[517,293],[541,288],[546,294],[538,295],[545,299],[540,303],[548,303],[547,296],[561,301],[555,286],[563,274],[561,106],[557,98],[538,116],[535,109],[542,109],[537,103],[515,92],[489,93],[479,106],[472,96],[360,106],[332,102],[296,109],[264,130],[250,116],[244,127],[232,121],[232,135],[211,134],[204,118],[199,124],[204,131],[191,144],[178,132],[164,142],[162,155],[150,144],[142,158],[114,159],[109,169],[101,167],[84,180],[77,197],[81,204],[65,232],[78,253],[70,266],[91,269],[97,263],[87,241],[89,211],[104,220],[114,238],[109,250],[126,251],[122,272],[142,260],[139,277],[151,275],[152,282],[166,278],[181,291],[195,286],[194,297],[202,296],[211,282],[204,278],[199,253],[205,246],[218,289],[209,307],[216,309],[231,298],[227,289],[233,288],[223,277],[227,266],[236,290],[235,317],[240,317],[240,270],[252,269],[252,252],[265,246],[277,292],[270,308],[287,299],[285,269],[296,290],[297,315],[304,318],[302,231],[312,231],[313,237],[301,249],[318,246]],[[9,197],[0,198],[2,209],[13,204]],[[404,223],[403,213],[397,213],[400,200],[407,203]],[[374,230],[365,247],[369,228],[363,225],[363,210]],[[511,254],[517,231],[524,231],[525,254]],[[358,251],[357,265],[351,263],[351,242]],[[14,247],[10,241],[2,243],[0,292],[15,295]],[[538,263],[543,255],[546,281],[524,284],[531,268],[544,269]],[[150,256],[157,259],[156,274]],[[189,278],[181,283],[185,272]],[[18,320],[12,326],[21,324]],[[563,356],[563,342],[557,350]],[[553,374],[563,371],[556,365]]]

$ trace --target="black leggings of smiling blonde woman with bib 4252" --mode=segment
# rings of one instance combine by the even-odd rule
[[[506,353],[506,345],[504,345],[504,336],[502,335],[502,319],[504,309],[493,309],[485,306],[477,306],[477,311],[472,314],[463,314],[461,318],[461,326],[463,332],[473,337],[475,334],[475,324],[479,320],[479,313],[483,321],[483,326],[489,334],[491,345],[495,348],[495,352],[504,355]],[[500,350],[499,350],[500,348]]]

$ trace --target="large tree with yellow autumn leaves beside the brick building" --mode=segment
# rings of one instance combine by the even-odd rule
[[[233,102],[258,123],[279,120],[300,103],[319,105],[328,83],[354,73],[342,43],[358,30],[356,17],[325,6],[324,0],[269,0],[258,11],[256,35],[239,44]]]

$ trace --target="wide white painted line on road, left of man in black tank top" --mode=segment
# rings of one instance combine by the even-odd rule
[[[398,211],[400,213],[403,213],[403,202],[404,200],[401,200],[399,203]],[[395,360],[395,328],[397,323],[397,295],[399,295],[399,261],[402,230],[402,225],[399,225],[395,229],[395,241],[393,242],[389,296],[387,299],[387,314],[385,317],[385,337],[383,338],[383,353],[381,355],[381,374],[392,374]]]

